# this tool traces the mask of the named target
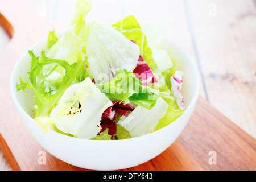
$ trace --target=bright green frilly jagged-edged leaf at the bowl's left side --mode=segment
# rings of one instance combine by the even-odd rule
[[[34,90],[38,107],[35,111],[35,118],[37,118],[51,113],[56,102],[69,85],[71,85],[72,81],[80,75],[81,70],[84,69],[85,61],[78,61],[70,65],[64,60],[46,57],[44,51],[41,53],[41,58],[36,57],[32,51],[29,51],[29,53],[32,58],[30,72],[28,72],[30,82],[24,82],[22,78],[20,78],[20,84],[17,84],[16,88],[18,91],[25,91],[27,88]],[[49,72],[44,72],[43,67],[46,65],[52,65],[52,69]],[[61,67],[61,69],[65,71],[63,79],[58,82],[47,82],[47,78],[51,76],[51,73],[58,67]]]

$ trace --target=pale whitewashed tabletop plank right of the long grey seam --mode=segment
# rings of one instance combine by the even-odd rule
[[[208,6],[209,9],[205,9]],[[250,0],[187,1],[207,99],[254,138],[255,7],[255,1]]]

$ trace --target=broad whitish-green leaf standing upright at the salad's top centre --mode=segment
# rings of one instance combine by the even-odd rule
[[[105,83],[100,77],[102,74],[111,76],[110,68],[127,69],[132,72],[137,65],[139,54],[139,46],[130,42],[115,28],[106,25],[91,28],[86,42],[86,55],[90,74],[96,84]]]

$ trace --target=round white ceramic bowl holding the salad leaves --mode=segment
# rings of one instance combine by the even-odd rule
[[[29,50],[33,50],[35,55],[39,56],[41,50],[46,47],[46,42],[47,39],[44,39]],[[28,93],[16,91],[19,77],[26,80],[24,78],[28,77],[27,72],[30,71],[31,59],[28,51],[20,57],[13,69],[10,82],[11,95],[28,131],[45,150],[56,158],[87,169],[115,170],[134,167],[155,158],[179,137],[191,117],[199,95],[199,72],[191,56],[168,39],[163,40],[162,48],[170,52],[172,59],[176,61],[177,69],[184,72],[182,93],[187,110],[170,125],[141,137],[101,141],[68,137],[55,131],[43,134],[40,126],[31,118],[31,107],[34,104],[31,99],[32,91]]]

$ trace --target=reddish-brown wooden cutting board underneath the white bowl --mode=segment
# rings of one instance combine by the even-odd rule
[[[11,7],[11,8],[10,8]],[[64,30],[31,1],[0,0],[0,24],[10,43],[0,52],[0,148],[14,170],[84,170],[55,158],[28,133],[14,107],[10,75],[19,57],[49,30]],[[199,97],[180,137],[162,154],[127,170],[255,170],[256,140]],[[46,164],[39,164],[40,151]]]

